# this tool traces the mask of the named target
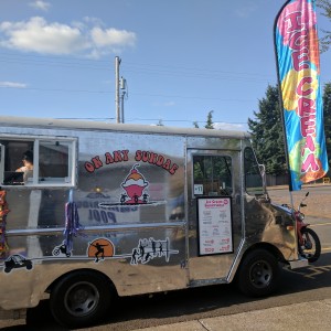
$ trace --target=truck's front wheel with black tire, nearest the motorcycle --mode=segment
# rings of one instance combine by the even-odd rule
[[[237,275],[239,290],[249,297],[274,292],[279,281],[277,258],[265,249],[252,250],[242,261]]]

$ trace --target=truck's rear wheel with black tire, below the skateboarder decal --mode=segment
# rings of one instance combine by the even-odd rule
[[[60,279],[51,290],[51,311],[63,327],[92,325],[105,317],[114,295],[105,276],[90,270],[75,271]]]

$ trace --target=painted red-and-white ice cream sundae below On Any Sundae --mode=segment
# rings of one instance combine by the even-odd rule
[[[121,184],[126,191],[126,196],[122,194],[121,204],[139,204],[147,203],[148,194],[143,190],[148,186],[148,182],[143,175],[136,169],[139,164],[135,164],[125,182]],[[128,197],[128,200],[126,200]],[[141,199],[142,197],[142,199]]]

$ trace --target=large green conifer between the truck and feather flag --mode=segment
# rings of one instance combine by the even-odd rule
[[[278,86],[269,85],[258,106],[259,110],[254,111],[256,119],[248,118],[257,159],[268,174],[284,174],[287,166]]]

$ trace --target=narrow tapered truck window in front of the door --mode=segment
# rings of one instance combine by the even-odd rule
[[[245,188],[249,195],[264,194],[263,177],[252,148],[244,151]]]

